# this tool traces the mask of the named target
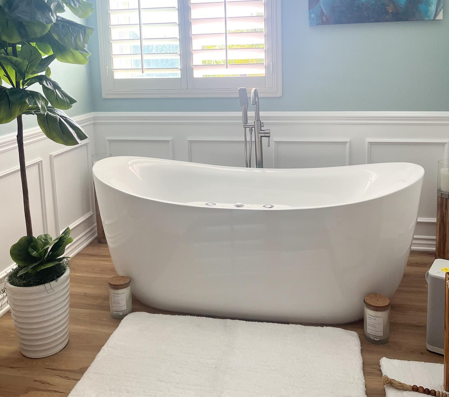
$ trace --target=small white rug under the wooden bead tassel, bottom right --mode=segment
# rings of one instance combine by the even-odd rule
[[[383,357],[380,359],[382,375],[399,380],[399,382],[416,384],[424,388],[444,390],[443,388],[443,364],[431,362],[392,360]],[[385,385],[387,397],[416,397],[416,392],[405,392],[390,385]]]

